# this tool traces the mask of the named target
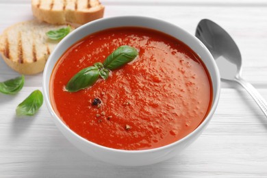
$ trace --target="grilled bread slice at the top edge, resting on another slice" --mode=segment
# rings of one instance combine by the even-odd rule
[[[31,0],[34,16],[51,24],[82,25],[102,18],[104,9],[99,0]]]

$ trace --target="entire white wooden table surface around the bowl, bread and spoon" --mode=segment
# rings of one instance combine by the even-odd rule
[[[243,77],[267,99],[266,0],[102,0],[105,17],[161,18],[194,34],[202,18],[222,25],[238,43]],[[33,18],[30,0],[0,0],[0,33]],[[0,81],[18,76],[0,59]],[[16,105],[42,89],[42,74],[27,76],[14,96],[0,94],[0,177],[267,177],[267,118],[238,84],[223,83],[211,123],[181,155],[142,167],[93,160],[55,127],[46,105],[18,118]]]

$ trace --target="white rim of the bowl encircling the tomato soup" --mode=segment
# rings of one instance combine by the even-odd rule
[[[136,18],[136,19],[140,19],[141,21],[157,21],[157,23],[161,23],[161,24],[165,24],[165,25],[176,27],[177,29],[179,29],[180,31],[182,31],[183,34],[186,34],[186,35],[191,36],[192,37],[192,40],[194,40],[195,42],[197,42],[203,48],[203,50],[205,50],[205,52],[207,53],[207,55],[209,56],[209,58],[212,59],[212,60],[210,60],[210,62],[212,62],[212,66],[214,67],[214,71],[215,71],[215,74],[216,74],[215,80],[212,81],[212,86],[213,86],[213,84],[215,84],[214,82],[216,82],[216,87],[217,87],[217,88],[214,88],[213,87],[213,93],[215,93],[216,95],[213,95],[212,106],[211,106],[211,108],[209,110],[209,113],[204,118],[203,122],[198,127],[196,127],[196,129],[194,129],[194,131],[190,132],[187,136],[181,138],[180,140],[177,140],[177,141],[172,142],[170,144],[164,145],[162,147],[157,147],[157,148],[153,148],[153,149],[144,149],[144,150],[124,150],[124,149],[114,149],[114,148],[110,148],[110,147],[105,147],[105,146],[102,146],[100,144],[91,142],[90,140],[86,140],[86,138],[83,138],[83,137],[79,136],[77,133],[75,133],[75,131],[73,131],[72,129],[70,129],[63,122],[63,120],[60,119],[60,117],[55,113],[55,111],[53,110],[53,107],[51,105],[50,98],[49,98],[49,86],[50,86],[50,82],[48,82],[48,84],[46,83],[46,81],[50,81],[50,78],[51,78],[51,75],[47,76],[47,73],[48,73],[49,66],[50,66],[50,63],[52,61],[53,55],[58,51],[58,49],[62,46],[62,44],[68,38],[71,38],[71,36],[77,34],[78,31],[80,31],[81,29],[88,28],[88,26],[91,26],[91,25],[94,25],[94,24],[97,24],[97,23],[103,23],[105,21],[110,21],[112,19],[119,19],[119,18]],[[124,25],[124,26],[126,26],[126,25]],[[135,26],[138,26],[138,25],[133,25],[132,27],[135,27]],[[122,26],[118,26],[117,25],[117,27],[123,27],[123,25]],[[110,28],[112,28],[112,27],[110,27]],[[149,27],[147,27],[147,28],[149,29]],[[106,29],[108,29],[108,28],[106,28]],[[153,28],[151,27],[150,29],[153,29]],[[103,29],[99,29],[99,31],[101,31],[101,30],[103,30]],[[159,29],[156,29],[156,30],[157,31],[160,31]],[[95,31],[95,32],[97,32],[97,31]],[[162,31],[162,32],[166,34],[166,32],[164,32],[164,31]],[[86,36],[89,36],[89,35],[90,34],[87,34]],[[84,36],[83,38],[85,38],[86,36]],[[176,37],[174,37],[174,38],[176,38]],[[75,42],[73,44],[75,44]],[[68,47],[71,47],[73,44],[68,44]],[[188,45],[188,44],[186,44],[186,45]],[[65,52],[66,52],[66,50],[62,53],[62,55]],[[50,67],[54,68],[54,65],[53,66],[50,66]],[[52,71],[53,71],[53,69],[52,69]],[[48,90],[47,90],[47,88],[48,88]],[[189,138],[193,137],[195,134],[199,133],[199,131],[201,131],[202,129],[204,129],[203,127],[205,127],[207,125],[207,123],[209,123],[209,120],[211,120],[211,118],[212,118],[212,116],[213,116],[213,114],[214,114],[214,112],[216,110],[216,107],[218,105],[218,101],[219,101],[219,98],[220,98],[220,73],[219,73],[218,67],[216,65],[216,62],[215,62],[214,58],[212,57],[212,54],[207,49],[207,47],[205,47],[205,45],[201,42],[201,40],[199,40],[198,38],[196,38],[194,35],[190,34],[188,31],[186,31],[184,29],[181,29],[181,27],[178,27],[177,25],[174,25],[173,23],[169,23],[169,22],[164,21],[164,20],[161,20],[159,18],[152,18],[152,17],[148,17],[148,16],[114,16],[114,17],[100,18],[100,19],[97,19],[97,20],[92,21],[90,23],[86,23],[84,25],[81,25],[80,27],[77,27],[77,29],[74,29],[71,32],[71,34],[68,34],[68,36],[66,36],[65,38],[63,38],[58,43],[58,45],[55,47],[55,49],[53,50],[53,52],[49,55],[49,58],[47,60],[47,63],[44,66],[44,72],[43,72],[43,76],[42,76],[42,91],[44,92],[44,101],[45,101],[45,103],[47,105],[47,108],[48,108],[48,110],[49,110],[52,118],[53,118],[54,123],[55,123],[56,120],[58,120],[59,123],[62,125],[62,127],[64,129],[66,129],[66,131],[68,131],[69,133],[71,133],[78,140],[81,140],[82,142],[86,142],[86,144],[91,144],[94,147],[98,147],[99,149],[104,149],[105,151],[113,151],[113,152],[116,152],[116,153],[152,153],[152,152],[155,152],[155,151],[162,151],[164,149],[169,149],[171,147],[174,147],[176,144],[180,144],[181,142],[184,142],[184,141],[188,140]],[[56,127],[58,128],[58,125],[56,125]]]

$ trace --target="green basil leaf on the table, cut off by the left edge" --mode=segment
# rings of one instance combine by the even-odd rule
[[[21,77],[0,82],[0,92],[3,94],[16,94],[23,88],[24,80],[24,75],[21,75]]]

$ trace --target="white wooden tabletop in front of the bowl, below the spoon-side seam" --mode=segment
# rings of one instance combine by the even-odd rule
[[[128,168],[93,160],[55,127],[45,105],[34,117],[14,115],[14,96],[0,95],[1,177],[266,177],[267,119],[244,90],[223,89],[214,118],[181,155]],[[267,97],[267,89],[260,90]],[[3,104],[4,103],[4,104]]]

